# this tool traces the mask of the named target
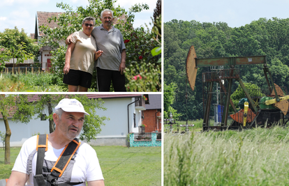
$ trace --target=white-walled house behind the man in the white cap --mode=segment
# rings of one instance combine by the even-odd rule
[[[101,133],[96,140],[89,144],[95,146],[126,146],[126,136],[130,132],[138,132],[139,126],[143,123],[143,111],[146,104],[142,94],[87,94],[90,99],[101,98],[103,106],[107,110],[96,109],[98,116],[110,118],[101,126]],[[39,100],[38,95],[31,95],[29,102]],[[55,107],[56,105],[53,105]],[[10,146],[22,146],[24,141],[35,134],[49,134],[49,122],[34,116],[28,124],[12,121],[16,108],[11,108],[8,122],[11,130]],[[54,110],[53,110],[54,111]],[[47,108],[43,108],[43,114],[48,114]],[[0,131],[5,132],[3,117],[0,115]],[[0,142],[0,146],[2,146]]]

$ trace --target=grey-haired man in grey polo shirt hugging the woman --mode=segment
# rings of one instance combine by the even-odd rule
[[[101,26],[94,27],[91,35],[96,39],[97,50],[103,54],[98,58],[97,84],[98,91],[110,91],[110,82],[115,92],[126,92],[124,69],[126,68],[126,47],[119,29],[112,26],[114,17],[112,10],[105,9],[101,13]],[[66,45],[71,43],[71,36],[66,39]]]

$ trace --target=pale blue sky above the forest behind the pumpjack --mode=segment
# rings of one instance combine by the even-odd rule
[[[177,3],[176,3],[177,2]],[[260,17],[289,17],[289,0],[163,0],[164,22],[196,20],[198,22],[225,22],[240,27]]]

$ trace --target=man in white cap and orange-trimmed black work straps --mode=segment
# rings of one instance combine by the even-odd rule
[[[61,100],[53,114],[55,131],[24,142],[7,185],[104,185],[96,151],[76,138],[84,115],[79,101]]]

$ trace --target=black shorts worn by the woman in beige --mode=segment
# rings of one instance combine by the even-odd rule
[[[91,78],[92,75],[89,72],[71,69],[68,74],[64,75],[64,84],[90,88]]]

